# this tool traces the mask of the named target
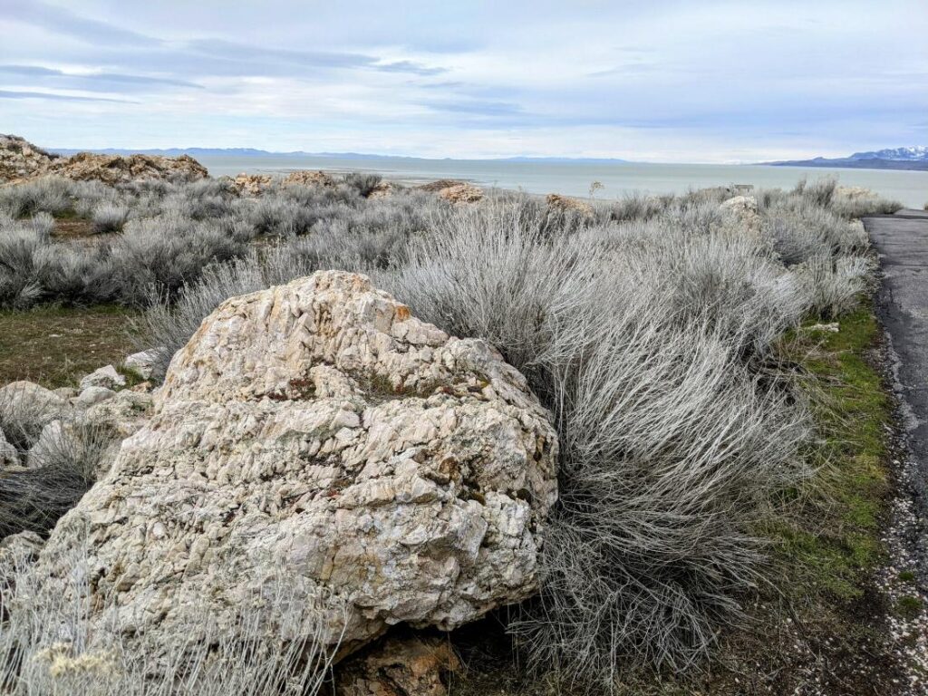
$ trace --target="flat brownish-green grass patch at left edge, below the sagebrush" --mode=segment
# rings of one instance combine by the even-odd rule
[[[115,305],[0,312],[0,384],[76,386],[97,367],[119,367],[133,351],[132,316]]]

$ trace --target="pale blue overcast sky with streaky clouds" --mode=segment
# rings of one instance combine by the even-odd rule
[[[45,147],[757,161],[928,144],[928,0],[0,0]]]

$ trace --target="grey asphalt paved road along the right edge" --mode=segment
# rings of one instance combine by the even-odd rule
[[[928,212],[864,220],[880,253],[880,311],[898,356],[897,391],[907,411],[909,445],[922,506],[928,509]]]

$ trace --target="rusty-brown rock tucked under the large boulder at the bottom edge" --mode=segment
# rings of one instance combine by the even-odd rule
[[[446,696],[460,660],[447,640],[386,638],[339,665],[336,696]]]

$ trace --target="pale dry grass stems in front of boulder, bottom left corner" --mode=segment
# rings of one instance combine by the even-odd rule
[[[80,521],[71,521],[77,523]],[[115,627],[92,629],[93,569],[85,549],[63,591],[43,592],[25,553],[0,557],[0,684],[12,696],[314,696],[330,675],[338,641],[326,618],[343,602],[273,572],[251,596],[229,598],[219,616],[204,602],[170,644]],[[272,569],[273,571],[273,569]],[[139,617],[139,623],[143,623]]]

